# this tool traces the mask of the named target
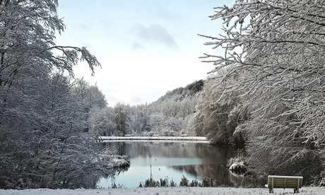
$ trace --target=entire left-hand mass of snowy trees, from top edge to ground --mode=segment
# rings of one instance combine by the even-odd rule
[[[79,60],[92,71],[100,64],[85,47],[55,45],[54,32],[64,30],[57,6],[0,1],[0,188],[95,187],[82,179],[110,163],[83,132],[86,107],[71,77]]]

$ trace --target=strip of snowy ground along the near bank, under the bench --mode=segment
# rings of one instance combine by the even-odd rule
[[[160,187],[160,188],[136,188],[136,189],[26,189],[26,190],[4,190],[0,189],[1,195],[127,195],[127,194],[152,194],[152,195],[191,195],[191,194],[269,194],[264,188],[209,188],[209,187]],[[293,189],[274,189],[274,194],[293,194]],[[302,187],[299,194],[325,194],[325,187]]]

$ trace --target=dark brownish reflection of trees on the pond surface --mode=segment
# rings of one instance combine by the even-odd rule
[[[259,186],[264,182],[247,177],[232,175],[225,166],[234,155],[233,148],[211,145],[208,143],[161,143],[161,142],[114,142],[104,143],[105,147],[117,148],[117,154],[129,158],[199,158],[202,165],[173,166],[175,170],[185,171],[189,175],[209,177],[217,186]],[[111,175],[114,177],[114,175]],[[257,182],[257,183],[256,183]]]

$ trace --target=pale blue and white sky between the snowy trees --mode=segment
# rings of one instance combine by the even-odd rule
[[[168,90],[206,79],[213,64],[203,53],[220,49],[204,45],[217,36],[222,20],[211,20],[213,7],[229,0],[59,0],[58,16],[66,29],[56,44],[87,47],[102,68],[91,76],[88,64],[73,69],[77,78],[98,85],[109,106],[140,105]]]

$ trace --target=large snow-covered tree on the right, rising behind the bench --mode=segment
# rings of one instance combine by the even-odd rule
[[[211,72],[217,77],[220,69],[228,68],[219,82],[225,93],[252,95],[246,96],[256,99],[250,105],[259,105],[254,110],[256,122],[240,126],[250,138],[250,164],[258,172],[266,170],[259,168],[264,164],[274,173],[279,164],[263,162],[280,159],[282,167],[305,165],[309,160],[318,167],[309,173],[319,172],[325,143],[324,11],[324,1],[238,0],[232,7],[216,8],[211,16],[223,20],[225,33],[204,36],[213,40],[206,45],[223,48],[225,53],[203,58],[215,64]],[[235,76],[237,83],[228,83]],[[271,141],[274,136],[277,142]],[[269,158],[259,155],[257,148],[270,154]],[[280,153],[285,155],[277,155]],[[309,174],[306,169],[288,171],[291,175]]]

